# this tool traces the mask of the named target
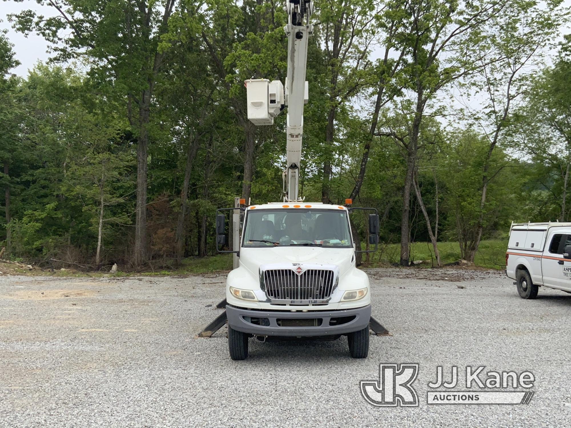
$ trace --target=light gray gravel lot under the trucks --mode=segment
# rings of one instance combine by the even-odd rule
[[[246,361],[228,357],[226,329],[195,338],[220,313],[222,275],[2,276],[0,426],[569,426],[570,294],[525,301],[501,272],[369,276],[373,316],[393,336],[372,336],[367,360],[350,358],[342,337],[251,340]],[[420,364],[419,407],[364,401],[359,381],[377,379],[381,362]],[[535,395],[427,405],[437,365],[530,370]]]

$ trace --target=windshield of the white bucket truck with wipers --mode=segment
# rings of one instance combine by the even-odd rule
[[[347,211],[260,209],[248,211],[243,247],[352,248]]]

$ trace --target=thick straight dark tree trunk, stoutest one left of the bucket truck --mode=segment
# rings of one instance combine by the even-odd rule
[[[135,216],[134,264],[138,268],[147,261],[147,158],[148,123],[150,117],[150,90],[143,91],[139,109],[139,144],[137,145],[137,192]]]

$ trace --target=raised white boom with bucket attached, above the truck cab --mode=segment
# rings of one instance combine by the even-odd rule
[[[288,37],[287,77],[284,86],[279,80],[246,80],[248,119],[256,125],[274,124],[275,116],[284,106],[287,112],[287,168],[284,171],[284,201],[299,199],[299,164],[303,137],[303,106],[308,100],[305,81],[308,38],[313,33],[309,23],[313,13],[312,0],[287,0],[284,9],[288,23],[284,27]],[[285,95],[285,96],[284,96]]]

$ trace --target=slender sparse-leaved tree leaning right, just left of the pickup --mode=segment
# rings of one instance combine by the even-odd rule
[[[488,37],[478,46],[485,50],[486,57],[477,60],[477,76],[473,87],[483,92],[486,101],[480,111],[472,111],[472,120],[484,131],[488,140],[488,151],[484,155],[480,178],[480,204],[477,207],[478,221],[472,233],[464,235],[468,240],[466,260],[473,262],[486,223],[486,198],[491,180],[499,169],[492,168],[492,157],[496,147],[507,145],[510,127],[516,123],[512,111],[529,85],[531,72],[526,70],[532,60],[539,60],[542,50],[549,45],[561,20],[568,15],[560,9],[560,2],[546,3],[539,7],[535,3],[515,3],[501,15],[494,16],[487,23]],[[488,56],[496,58],[490,62]]]

